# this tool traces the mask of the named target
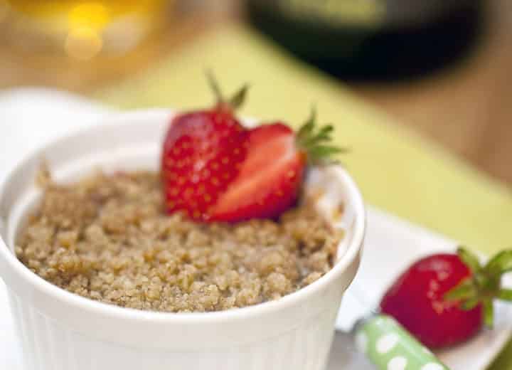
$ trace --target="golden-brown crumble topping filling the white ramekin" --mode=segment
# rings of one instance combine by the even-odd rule
[[[44,175],[16,255],[49,282],[112,305],[207,312],[276,300],[329,271],[342,237],[306,205],[279,222],[168,216],[159,176],[149,171],[70,185]]]

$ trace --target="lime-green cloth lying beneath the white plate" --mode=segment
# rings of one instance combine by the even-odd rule
[[[213,95],[206,68],[215,72],[226,95],[250,83],[242,115],[297,127],[316,105],[319,121],[335,125],[337,144],[351,149],[341,161],[373,206],[484,253],[512,246],[512,189],[242,26],[210,33],[94,97],[122,109],[208,107]],[[512,369],[509,347],[492,369]]]

